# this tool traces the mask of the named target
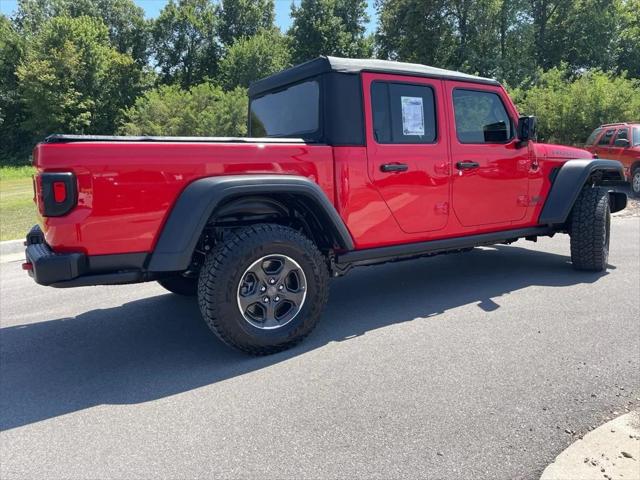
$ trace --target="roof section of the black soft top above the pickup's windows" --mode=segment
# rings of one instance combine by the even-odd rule
[[[304,80],[305,78],[327,72],[347,74],[359,74],[360,72],[396,73],[416,77],[444,78],[462,82],[499,85],[497,80],[491,78],[477,77],[453,70],[420,65],[419,63],[361,58],[318,57],[252,83],[249,87],[249,96],[255,97],[270,90],[275,90],[285,85]]]

